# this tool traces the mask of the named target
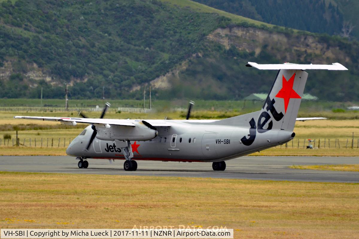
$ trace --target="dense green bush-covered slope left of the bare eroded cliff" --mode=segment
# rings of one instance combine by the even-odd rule
[[[73,97],[100,97],[102,86],[106,95],[126,97],[131,86],[200,51],[206,35],[228,21],[157,0],[3,1],[0,66],[11,61],[7,66],[15,74],[3,79],[0,96],[37,96],[33,86],[42,85],[50,92],[45,97],[53,97],[50,83],[67,82],[74,85]],[[22,82],[28,77],[21,74],[34,70],[28,63],[46,71],[52,82]],[[63,91],[56,94],[62,96]]]

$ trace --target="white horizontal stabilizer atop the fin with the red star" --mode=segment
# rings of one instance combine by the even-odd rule
[[[259,70],[334,70],[346,71],[345,66],[340,63],[332,63],[331,65],[314,65],[314,64],[258,64],[255,62],[248,62],[248,67],[255,67]]]

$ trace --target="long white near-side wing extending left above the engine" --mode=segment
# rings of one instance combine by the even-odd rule
[[[108,128],[108,125],[122,125],[122,126],[136,126],[136,123],[143,120],[121,120],[121,119],[91,119],[91,118],[68,118],[68,117],[38,117],[38,116],[14,116],[15,119],[33,119],[43,121],[59,121],[67,125],[76,125],[77,123],[94,124],[95,126],[103,126]],[[163,120],[149,120],[152,126],[171,126]]]

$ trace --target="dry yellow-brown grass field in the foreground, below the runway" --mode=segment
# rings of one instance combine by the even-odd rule
[[[227,226],[234,238],[356,238],[359,185],[0,172],[0,228]]]

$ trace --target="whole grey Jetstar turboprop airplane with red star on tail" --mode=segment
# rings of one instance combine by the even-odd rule
[[[125,159],[126,171],[137,169],[136,160],[212,162],[223,171],[225,161],[292,140],[296,118],[307,81],[304,70],[348,70],[339,63],[257,64],[248,67],[279,70],[260,111],[223,120],[130,120],[14,116],[14,118],[60,121],[66,125],[90,124],[66,149],[87,168],[88,158]]]

